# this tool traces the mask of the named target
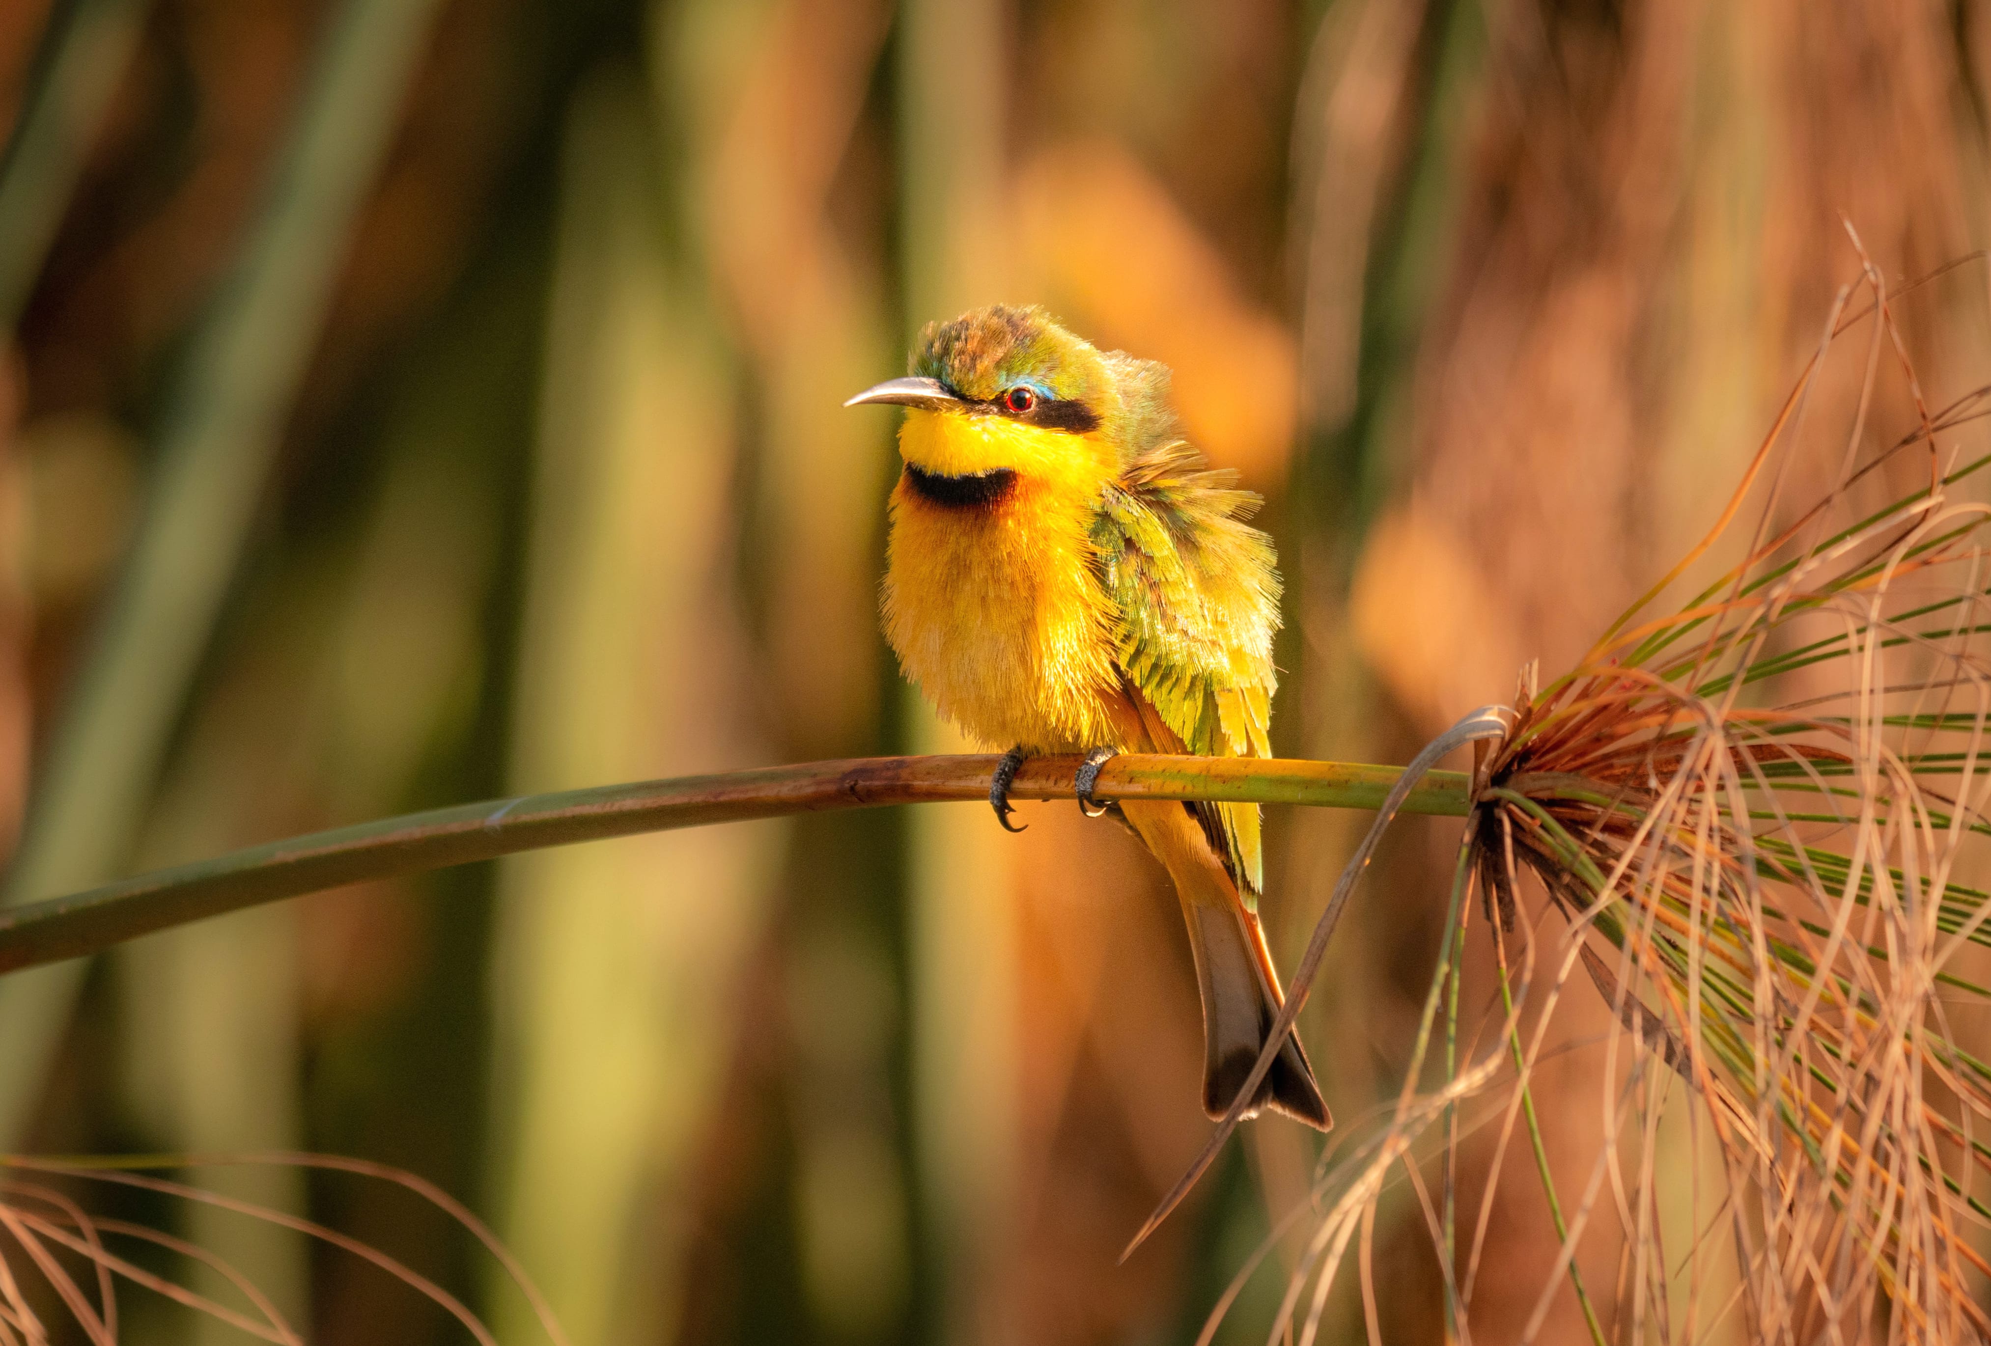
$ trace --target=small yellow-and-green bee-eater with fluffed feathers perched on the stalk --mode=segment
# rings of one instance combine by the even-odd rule
[[[1187,442],[1169,370],[1101,352],[1041,309],[978,309],[920,335],[912,376],[846,406],[908,408],[884,629],[942,715],[1025,755],[1083,753],[1079,804],[1115,753],[1270,757],[1272,542],[1258,498]],[[1203,1107],[1222,1117],[1280,1006],[1258,926],[1256,804],[1121,800],[1167,866],[1203,992]],[[1091,810],[1089,810],[1091,812]],[[1013,830],[1013,828],[1011,828]],[[1250,1111],[1332,1125],[1298,1035]]]

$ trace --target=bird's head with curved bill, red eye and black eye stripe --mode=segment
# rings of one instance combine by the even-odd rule
[[[906,464],[944,478],[1117,466],[1167,418],[1167,370],[1101,352],[1043,309],[996,305],[928,323],[912,374],[844,406],[910,408],[898,444]]]

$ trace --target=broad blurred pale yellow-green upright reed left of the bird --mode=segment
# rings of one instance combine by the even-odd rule
[[[526,548],[514,786],[747,765],[727,583],[735,436],[709,325],[665,265],[651,110],[579,90],[563,147]],[[565,848],[506,866],[496,932],[500,1233],[577,1340],[657,1336],[685,1234],[631,1246],[689,1185],[767,920],[782,824]],[[641,1258],[641,1260],[639,1260]],[[500,1320],[530,1330],[530,1320]]]

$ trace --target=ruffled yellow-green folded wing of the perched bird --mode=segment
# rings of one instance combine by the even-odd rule
[[[1270,757],[1278,571],[1272,540],[1244,522],[1258,496],[1234,480],[1181,440],[1147,450],[1107,488],[1093,542],[1117,613],[1119,667],[1161,723],[1189,753]],[[1258,806],[1197,810],[1256,910]]]

